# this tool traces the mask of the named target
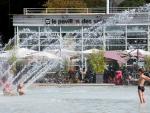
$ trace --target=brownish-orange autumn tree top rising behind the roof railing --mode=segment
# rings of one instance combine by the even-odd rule
[[[83,0],[48,0],[45,4],[47,8],[86,8]]]

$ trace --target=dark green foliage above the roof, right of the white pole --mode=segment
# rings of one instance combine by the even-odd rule
[[[125,0],[119,6],[120,7],[138,7],[143,6],[145,4],[145,0]]]

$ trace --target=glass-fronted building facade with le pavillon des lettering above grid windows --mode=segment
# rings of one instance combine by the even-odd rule
[[[16,45],[37,51],[81,51],[82,62],[83,51],[93,48],[149,51],[149,13],[134,10],[124,14],[122,10],[105,14],[101,9],[25,9],[23,15],[13,16]]]

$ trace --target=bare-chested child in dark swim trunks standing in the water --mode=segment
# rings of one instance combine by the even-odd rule
[[[144,69],[140,68],[138,70],[138,74],[139,74],[139,80],[138,80],[138,94],[139,94],[139,98],[140,98],[140,102],[145,103],[145,98],[144,98],[144,83],[145,81],[150,81],[150,78],[144,75]]]

